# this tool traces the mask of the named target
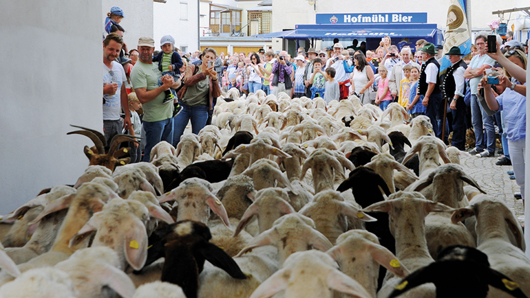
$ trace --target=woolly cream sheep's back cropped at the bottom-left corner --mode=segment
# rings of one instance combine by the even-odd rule
[[[76,287],[67,273],[52,267],[26,271],[13,282],[0,287],[2,298],[76,298],[77,295]]]

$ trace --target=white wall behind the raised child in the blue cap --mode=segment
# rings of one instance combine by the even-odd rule
[[[113,6],[123,10],[125,18],[120,25],[125,29],[123,39],[127,48],[136,49],[138,38],[141,36],[153,37],[153,0],[102,0],[101,32],[107,13]],[[160,38],[158,38],[160,41]]]

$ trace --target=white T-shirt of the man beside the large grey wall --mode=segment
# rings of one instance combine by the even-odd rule
[[[121,109],[121,86],[127,81],[123,66],[116,61],[112,61],[112,69],[109,69],[103,63],[103,86],[105,84],[118,84],[118,89],[114,95],[103,95],[105,104],[103,104],[103,120],[119,120]]]

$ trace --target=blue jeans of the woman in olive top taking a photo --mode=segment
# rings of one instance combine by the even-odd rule
[[[180,137],[184,133],[184,129],[191,120],[191,132],[195,135],[206,126],[208,120],[208,106],[201,104],[200,106],[188,106],[180,103],[182,111],[175,117],[175,129],[173,130],[173,146],[176,147],[180,141]]]

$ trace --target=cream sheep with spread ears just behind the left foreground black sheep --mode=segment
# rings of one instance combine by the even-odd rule
[[[211,193],[213,190],[208,181],[190,178],[182,181],[179,187],[158,198],[160,203],[176,200],[178,203],[178,220],[196,220],[206,224],[209,208],[218,214],[224,224],[230,225],[226,209],[221,201]]]

